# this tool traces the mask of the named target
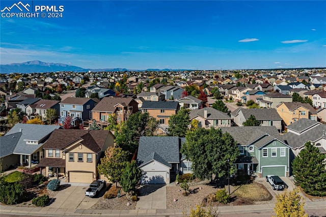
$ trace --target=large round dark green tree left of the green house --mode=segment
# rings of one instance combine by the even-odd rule
[[[221,129],[198,128],[189,131],[182,144],[181,153],[193,162],[194,175],[201,179],[227,177],[236,171],[234,162],[239,155],[238,147],[229,133]],[[229,159],[229,160],[228,160]]]

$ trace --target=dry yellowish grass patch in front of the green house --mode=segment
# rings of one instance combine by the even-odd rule
[[[266,201],[273,198],[267,189],[257,182],[241,186],[232,186],[232,188],[234,188],[232,189],[232,196],[246,198],[251,201]]]

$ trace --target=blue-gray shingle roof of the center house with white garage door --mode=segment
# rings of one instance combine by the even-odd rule
[[[180,162],[179,146],[181,142],[182,139],[178,137],[141,137],[137,160],[140,166],[155,159],[171,167],[172,162]]]

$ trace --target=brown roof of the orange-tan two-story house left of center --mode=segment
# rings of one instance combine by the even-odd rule
[[[132,98],[116,98],[116,97],[104,97],[93,109],[92,111],[97,112],[109,112],[114,113],[116,108],[114,107],[117,104],[122,106],[128,105],[133,99]]]

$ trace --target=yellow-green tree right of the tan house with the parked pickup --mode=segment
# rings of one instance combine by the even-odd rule
[[[98,172],[103,174],[108,180],[116,183],[121,180],[121,174],[127,165],[128,153],[122,148],[109,147],[105,150],[105,156],[97,166]]]

